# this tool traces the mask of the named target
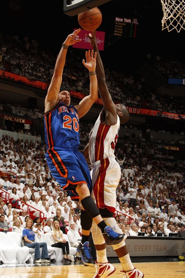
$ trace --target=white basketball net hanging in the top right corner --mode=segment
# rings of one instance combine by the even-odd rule
[[[182,28],[185,30],[185,0],[161,0],[161,3],[164,13],[162,30],[176,29],[178,33]]]

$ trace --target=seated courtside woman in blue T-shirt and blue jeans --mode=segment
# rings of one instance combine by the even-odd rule
[[[26,221],[26,227],[23,229],[24,245],[35,249],[35,263],[50,263],[47,243],[35,242],[35,233],[41,236],[40,232],[33,231],[33,221],[32,219],[28,219]],[[40,254],[40,247],[42,247],[42,255]]]

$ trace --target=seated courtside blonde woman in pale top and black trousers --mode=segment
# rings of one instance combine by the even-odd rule
[[[65,240],[63,236],[63,232],[60,230],[60,225],[57,220],[54,221],[53,223],[53,231],[51,232],[51,236],[52,236],[51,246],[61,248],[63,252],[64,262],[68,262],[68,261],[71,262],[69,256],[69,243],[67,240]],[[66,249],[67,256],[65,254],[65,249]]]

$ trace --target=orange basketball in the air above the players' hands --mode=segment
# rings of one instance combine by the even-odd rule
[[[97,7],[78,14],[78,23],[84,30],[95,30],[100,26],[101,22],[102,14]]]

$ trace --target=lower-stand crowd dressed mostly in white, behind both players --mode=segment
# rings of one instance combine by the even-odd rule
[[[88,141],[91,128],[91,124],[81,125],[82,149]],[[0,148],[0,171],[3,176],[0,187],[10,193],[12,203],[17,199],[24,200],[25,203],[42,211],[47,221],[50,219],[52,222],[58,213],[65,221],[70,219],[75,225],[79,224],[77,220],[80,220],[78,214],[81,205],[71,201],[69,195],[51,176],[45,159],[45,144],[28,140],[23,142],[19,139],[15,141],[4,135],[0,141]],[[156,235],[162,226],[164,235],[168,235],[173,226],[176,232],[184,230],[185,161],[175,160],[173,152],[168,152],[160,142],[152,144],[140,138],[119,138],[116,159],[121,167],[120,184],[116,190],[116,214],[122,231],[131,225],[128,234],[137,235],[137,232],[142,232],[147,226],[153,229],[155,224],[157,230],[151,229],[149,234],[147,228],[146,235],[152,236],[153,232]],[[171,204],[174,208],[174,202],[175,209],[170,210]],[[19,205],[26,214],[29,213],[26,205]],[[14,216],[13,210],[10,210],[11,204],[1,202],[0,206],[5,210],[5,216]],[[9,215],[6,215],[6,212]],[[16,212],[15,214],[17,215]],[[35,213],[35,216],[39,215],[38,212]],[[78,217],[69,218],[70,215]],[[12,222],[9,220],[8,225]],[[39,220],[37,222],[40,223]],[[41,224],[44,229],[45,221]],[[73,227],[72,224],[71,227],[76,226]],[[80,228],[78,225],[77,233]]]

